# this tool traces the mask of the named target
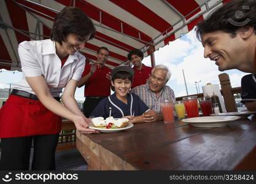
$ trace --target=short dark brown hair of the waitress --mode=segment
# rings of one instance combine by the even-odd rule
[[[59,42],[65,41],[68,34],[76,34],[79,39],[91,34],[92,39],[96,32],[91,19],[77,7],[65,7],[55,17],[50,39]]]

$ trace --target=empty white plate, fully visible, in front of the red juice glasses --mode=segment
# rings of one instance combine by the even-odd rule
[[[212,116],[212,117],[197,117],[197,118],[187,118],[181,121],[185,123],[190,123],[190,125],[200,128],[212,128],[227,126],[230,121],[235,121],[241,117],[237,116]]]

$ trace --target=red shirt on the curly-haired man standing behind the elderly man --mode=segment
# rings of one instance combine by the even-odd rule
[[[133,67],[133,70],[134,78],[133,85],[131,86],[131,88],[135,88],[136,86],[144,85],[145,83],[147,83],[147,79],[149,79],[152,67],[145,66],[145,64],[142,64],[141,70],[138,70],[135,66]]]

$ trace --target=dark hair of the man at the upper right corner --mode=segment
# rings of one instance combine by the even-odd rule
[[[223,4],[196,25],[196,37],[201,41],[202,34],[219,30],[235,37],[236,30],[242,26],[253,27],[256,33],[255,0],[233,0]]]

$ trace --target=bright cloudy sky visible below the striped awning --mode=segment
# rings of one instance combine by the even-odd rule
[[[236,69],[220,72],[214,61],[203,57],[204,48],[196,39],[195,30],[184,34],[180,39],[169,42],[163,48],[155,52],[155,64],[168,66],[172,75],[167,85],[170,86],[176,97],[187,95],[182,69],[184,70],[188,94],[196,94],[195,82],[202,93],[202,86],[206,83],[219,84],[219,74],[227,73],[233,88],[241,86],[241,78],[246,75]],[[151,66],[150,56],[142,60],[147,66]],[[1,72],[2,71],[2,72]],[[0,88],[9,88],[10,83],[18,82],[22,77],[21,72],[0,70]],[[200,82],[201,81],[201,82]],[[83,87],[77,88],[75,98],[83,101]]]

